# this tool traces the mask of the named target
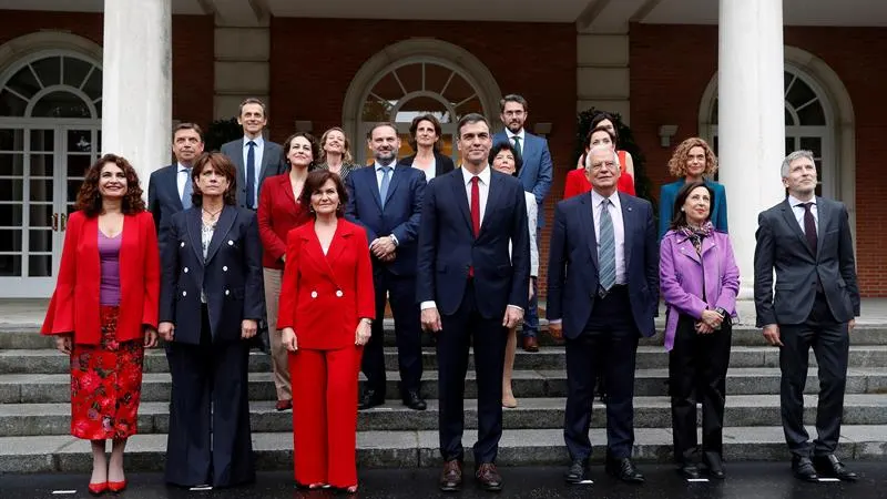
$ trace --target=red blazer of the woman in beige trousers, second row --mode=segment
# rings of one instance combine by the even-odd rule
[[[284,268],[286,234],[312,220],[307,208],[293,196],[289,173],[269,176],[258,195],[258,236],[262,238],[262,266]]]

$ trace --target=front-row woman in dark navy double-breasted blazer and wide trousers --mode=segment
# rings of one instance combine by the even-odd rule
[[[265,307],[254,212],[236,205],[236,169],[204,153],[193,206],[173,215],[161,254],[161,336],[173,390],[166,481],[231,487],[255,479],[249,434],[249,338]]]

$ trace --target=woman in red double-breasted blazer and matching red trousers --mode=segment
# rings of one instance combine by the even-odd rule
[[[363,227],[343,214],[335,173],[308,174],[302,203],[313,223],[289,231],[277,328],[289,350],[296,483],[357,491],[357,377],[375,317]]]

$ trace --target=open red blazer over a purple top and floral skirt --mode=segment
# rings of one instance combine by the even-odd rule
[[[122,237],[118,342],[142,338],[144,324],[157,327],[160,296],[160,249],[151,212],[124,216]],[[73,333],[74,343],[99,345],[100,282],[99,217],[74,212],[68,220],[59,278],[40,333]]]

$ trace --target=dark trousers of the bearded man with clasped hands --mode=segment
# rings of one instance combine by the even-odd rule
[[[373,336],[364,347],[361,370],[366,387],[385,397],[385,304],[391,304],[397,342],[397,363],[400,369],[400,395],[419,391],[422,378],[421,318],[416,303],[416,276],[398,276],[385,268],[375,268],[376,320]]]

